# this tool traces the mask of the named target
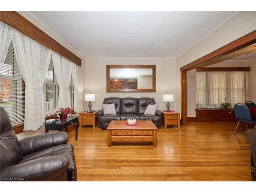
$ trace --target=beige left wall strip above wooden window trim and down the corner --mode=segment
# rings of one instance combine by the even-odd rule
[[[78,53],[74,48],[72,48],[65,40],[61,39],[57,34],[52,32],[49,28],[47,28],[44,24],[39,22],[33,15],[31,15],[28,11],[18,11],[19,14],[27,18],[31,23],[33,23],[35,26],[40,28],[42,31],[47,33],[49,36],[54,38],[56,41],[58,41],[62,46],[66,47],[68,50],[76,54],[78,57],[82,59],[82,65],[79,67],[78,71],[78,102],[79,102],[79,111],[84,111],[85,110],[85,105],[84,105],[84,92],[85,92],[85,79],[84,79],[84,74],[86,70],[86,65],[85,65],[85,59],[84,57]]]

